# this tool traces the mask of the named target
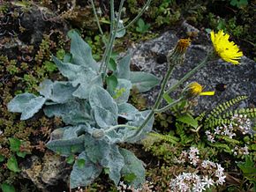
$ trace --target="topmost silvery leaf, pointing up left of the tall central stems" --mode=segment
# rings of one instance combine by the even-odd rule
[[[98,71],[99,66],[93,58],[92,49],[85,41],[83,41],[79,33],[75,30],[71,30],[69,31],[68,36],[72,39],[72,63]]]

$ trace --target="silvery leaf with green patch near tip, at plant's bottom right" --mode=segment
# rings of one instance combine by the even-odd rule
[[[121,170],[121,174],[124,175],[126,181],[130,182],[130,185],[138,188],[145,183],[145,168],[143,162],[136,158],[136,156],[128,150],[119,149],[120,153],[124,157],[124,167]]]

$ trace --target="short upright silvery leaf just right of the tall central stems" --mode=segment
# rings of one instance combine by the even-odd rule
[[[128,55],[124,55],[117,64],[117,78],[125,78],[130,79],[131,70],[131,57],[132,53],[128,53]]]

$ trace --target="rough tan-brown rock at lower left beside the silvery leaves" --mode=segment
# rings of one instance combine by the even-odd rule
[[[64,191],[68,188],[68,177],[71,167],[64,158],[47,151],[43,159],[32,156],[22,163],[22,176],[34,182],[42,192]]]

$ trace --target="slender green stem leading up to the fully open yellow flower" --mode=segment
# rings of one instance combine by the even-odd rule
[[[208,53],[206,58],[198,65],[196,66],[194,69],[192,69],[191,71],[189,71],[187,74],[185,74],[184,78],[181,78],[177,84],[172,85],[169,90],[167,90],[166,92],[164,92],[164,94],[169,94],[169,92],[173,92],[174,90],[177,89],[177,87],[179,85],[182,85],[184,83],[185,80],[187,80],[188,78],[192,77],[192,75],[197,72],[198,70],[200,70],[200,68],[202,68],[204,65],[206,65],[207,61],[209,60],[209,58],[211,58],[212,54]]]

